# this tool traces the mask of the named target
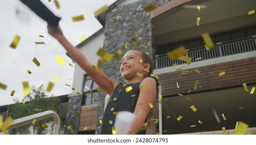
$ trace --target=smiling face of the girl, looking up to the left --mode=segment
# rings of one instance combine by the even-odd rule
[[[139,63],[140,60],[143,59],[141,52],[139,51],[131,50],[125,53],[120,66],[120,72],[123,78],[125,78],[126,80],[131,80],[134,78],[142,80],[143,77],[139,77],[136,74],[137,72],[140,72],[140,74],[144,76],[146,64]]]

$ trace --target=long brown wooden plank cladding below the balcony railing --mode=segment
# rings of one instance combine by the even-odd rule
[[[182,71],[169,72],[166,74],[160,74],[159,83],[162,88],[163,96],[187,94],[188,89],[192,92],[200,92],[221,88],[228,88],[232,86],[241,86],[242,83],[256,83],[256,57],[252,57],[246,60],[238,60],[220,64],[214,64],[204,67],[198,67],[200,74],[197,74],[194,69],[184,69],[182,71],[191,71],[187,75],[179,75]],[[219,77],[219,73],[225,71],[225,75]],[[194,83],[198,80],[197,89],[194,89]],[[177,88],[176,82],[179,83]],[[198,88],[198,85],[202,88]]]

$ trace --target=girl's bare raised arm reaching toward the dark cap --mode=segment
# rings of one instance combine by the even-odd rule
[[[60,44],[66,49],[66,51],[68,51],[72,59],[87,72],[92,80],[95,81],[110,96],[112,96],[114,89],[116,88],[118,83],[115,82],[113,79],[107,77],[102,71],[94,70],[86,57],[76,47],[72,46],[70,42],[65,38],[65,36],[61,32],[60,27],[57,28],[48,25],[47,28],[48,33],[60,42]]]

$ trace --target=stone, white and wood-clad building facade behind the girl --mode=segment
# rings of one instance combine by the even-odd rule
[[[143,8],[151,3],[157,8],[145,12]],[[163,134],[234,129],[237,121],[255,127],[252,90],[256,86],[256,16],[248,15],[255,3],[253,0],[117,1],[97,16],[103,28],[77,47],[94,65],[99,59],[96,55],[99,48],[112,54],[117,50],[122,50],[122,54],[130,49],[140,50],[152,57],[163,96],[163,122],[160,122]],[[214,47],[210,51],[204,48],[202,33],[211,36]],[[191,64],[169,59],[167,52],[180,46],[192,57]],[[104,62],[102,70],[123,83],[119,63],[120,59]],[[220,77],[223,71],[225,75]],[[100,93],[98,85],[78,65],[74,73],[75,90],[69,95],[68,110],[80,115],[67,112],[66,125],[73,124],[73,133],[66,128],[65,134],[100,134],[99,120],[103,117],[106,93]],[[248,92],[243,83],[247,84]],[[190,108],[192,105],[197,111]],[[178,121],[180,115],[182,119]]]

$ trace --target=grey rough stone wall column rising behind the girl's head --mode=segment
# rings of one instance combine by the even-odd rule
[[[105,22],[105,40],[103,49],[115,54],[117,50],[122,50],[120,59],[112,59],[111,63],[104,62],[102,70],[109,77],[112,77],[117,82],[125,83],[125,80],[120,75],[119,64],[123,55],[128,50],[140,50],[151,56],[154,60],[154,34],[153,25],[149,12],[144,12],[143,7],[154,3],[156,6],[161,6],[169,0],[142,0],[125,6],[120,6],[109,10]],[[114,19],[119,16],[119,19]],[[137,40],[135,45],[131,38]],[[128,44],[127,48],[125,45]],[[101,124],[99,120],[103,118],[104,98],[106,93],[100,94],[98,101],[98,117],[96,134],[100,134]]]

